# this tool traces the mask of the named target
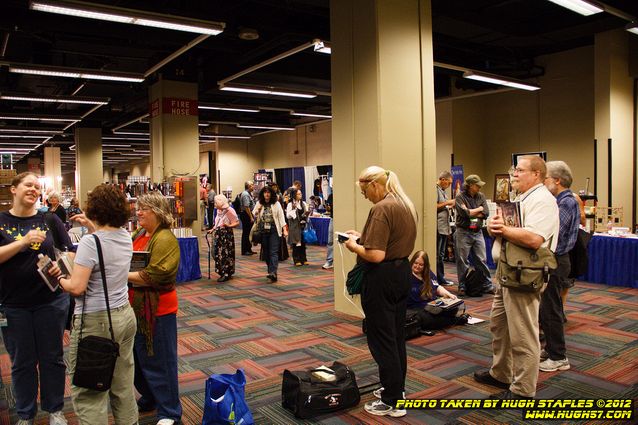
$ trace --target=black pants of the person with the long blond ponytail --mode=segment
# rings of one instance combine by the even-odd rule
[[[366,315],[368,348],[379,367],[382,400],[393,407],[403,398],[405,389],[405,313],[409,292],[407,259],[375,264],[363,280],[361,306]]]

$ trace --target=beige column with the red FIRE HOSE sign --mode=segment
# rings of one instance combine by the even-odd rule
[[[152,181],[167,181],[172,176],[191,176],[198,184],[197,84],[160,79],[150,87],[149,100]],[[191,226],[194,235],[200,234],[202,220],[197,187],[194,192],[185,194],[187,211],[195,211],[196,214]]]

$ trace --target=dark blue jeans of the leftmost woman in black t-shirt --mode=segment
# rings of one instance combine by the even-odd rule
[[[7,316],[2,337],[11,357],[18,417],[31,419],[38,411],[38,370],[42,410],[62,410],[66,371],[62,339],[69,312],[68,294],[60,294],[48,304],[0,309]]]

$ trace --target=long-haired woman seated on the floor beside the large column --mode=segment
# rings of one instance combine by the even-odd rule
[[[408,316],[416,314],[422,330],[443,329],[452,325],[467,323],[467,315],[456,317],[458,308],[432,314],[425,310],[430,301],[438,297],[456,299],[456,295],[439,286],[436,275],[430,269],[430,259],[425,251],[417,251],[410,260],[412,275],[410,276],[410,294],[408,296]]]

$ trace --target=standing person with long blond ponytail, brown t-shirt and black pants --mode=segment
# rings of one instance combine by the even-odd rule
[[[374,205],[361,233],[346,232],[351,237],[345,246],[357,254],[358,263],[366,265],[361,306],[368,323],[368,347],[381,381],[381,388],[374,392],[379,400],[366,403],[365,410],[377,416],[401,417],[406,411],[394,406],[405,398],[408,256],[414,249],[418,217],[394,172],[368,167],[359,175],[358,185]]]

